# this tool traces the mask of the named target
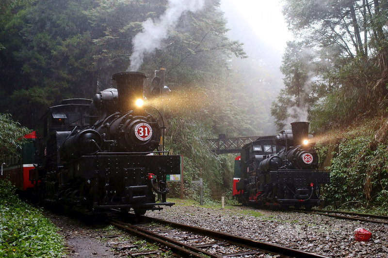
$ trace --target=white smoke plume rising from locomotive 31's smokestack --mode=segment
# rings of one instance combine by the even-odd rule
[[[182,14],[196,12],[203,6],[204,0],[168,0],[164,14],[155,22],[148,18],[143,22],[143,32],[133,38],[133,51],[127,71],[138,71],[143,64],[144,55],[160,49],[162,40],[168,37],[168,30],[175,27]]]

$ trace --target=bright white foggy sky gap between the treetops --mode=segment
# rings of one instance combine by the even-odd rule
[[[244,43],[250,58],[260,60],[275,73],[279,72],[282,54],[292,34],[281,14],[278,1],[222,0],[229,37]]]

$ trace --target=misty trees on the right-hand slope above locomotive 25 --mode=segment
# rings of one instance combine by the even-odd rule
[[[299,40],[289,42],[283,56],[285,89],[272,107],[278,128],[308,115],[312,130],[323,132],[386,112],[387,0],[284,3]]]

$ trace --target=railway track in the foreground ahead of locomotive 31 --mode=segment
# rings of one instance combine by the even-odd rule
[[[324,258],[325,256],[233,236],[204,228],[192,227],[161,219],[141,217],[141,224],[133,225],[117,219],[110,224],[150,242],[169,247],[181,257],[238,258],[279,255],[280,257]]]

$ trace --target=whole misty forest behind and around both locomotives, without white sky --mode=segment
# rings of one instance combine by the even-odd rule
[[[206,201],[231,198],[236,155],[210,152],[207,139],[309,121],[331,172],[325,204],[387,212],[388,0],[283,0],[294,40],[281,73],[229,38],[220,0],[171,11],[174,2],[0,0],[0,147],[17,144],[49,106],[91,99],[113,74],[140,71],[145,96],[163,109],[165,148],[184,156],[185,197],[198,200],[191,181],[203,178]],[[171,92],[151,99],[161,67]]]

